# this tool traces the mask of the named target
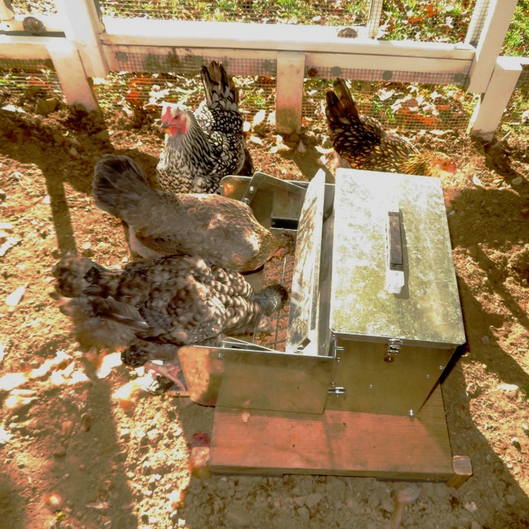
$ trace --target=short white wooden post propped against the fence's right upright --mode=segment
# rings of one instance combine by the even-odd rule
[[[520,57],[498,57],[490,83],[470,119],[468,133],[492,140],[521,71]]]

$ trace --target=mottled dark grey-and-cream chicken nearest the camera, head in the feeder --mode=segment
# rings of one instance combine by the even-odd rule
[[[240,273],[190,255],[130,262],[121,269],[106,269],[86,257],[64,257],[53,274],[54,297],[71,317],[80,346],[126,347],[121,356],[128,365],[166,360],[175,349],[171,345],[267,332],[268,316],[288,301],[280,284],[254,293]]]

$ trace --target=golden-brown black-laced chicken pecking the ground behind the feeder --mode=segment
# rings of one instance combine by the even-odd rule
[[[325,109],[334,150],[353,169],[443,176],[456,165],[444,152],[420,152],[401,136],[384,130],[370,116],[362,116],[345,81],[336,79],[327,92]]]

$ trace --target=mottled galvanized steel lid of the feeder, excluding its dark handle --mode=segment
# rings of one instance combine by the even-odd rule
[[[387,272],[388,214],[395,205],[401,221],[400,293],[392,293]],[[438,178],[338,169],[333,244],[332,332],[437,347],[465,342]]]

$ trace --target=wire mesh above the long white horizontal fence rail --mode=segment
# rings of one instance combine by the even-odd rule
[[[377,38],[463,42],[475,7],[482,28],[489,0],[99,0],[104,16],[303,25],[379,25]],[[377,20],[379,13],[379,20]],[[372,17],[370,18],[370,14]]]

